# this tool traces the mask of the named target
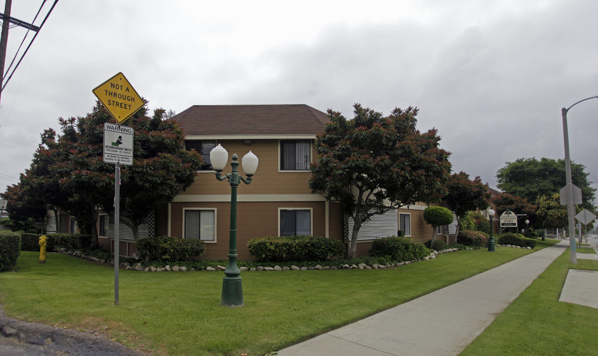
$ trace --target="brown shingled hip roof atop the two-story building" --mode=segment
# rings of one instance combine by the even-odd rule
[[[173,119],[185,135],[315,135],[326,113],[297,105],[194,105]]]

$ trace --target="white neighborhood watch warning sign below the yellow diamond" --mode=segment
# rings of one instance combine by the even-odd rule
[[[103,161],[127,166],[133,164],[133,128],[104,123]]]

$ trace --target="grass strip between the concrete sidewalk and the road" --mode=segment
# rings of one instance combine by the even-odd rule
[[[569,268],[598,271],[598,261],[569,261],[567,250],[460,356],[598,355],[598,309],[559,302]]]

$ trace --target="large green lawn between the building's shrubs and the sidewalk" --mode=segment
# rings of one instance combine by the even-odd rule
[[[539,242],[536,250],[557,240]],[[245,272],[245,307],[219,305],[222,272],[120,271],[58,253],[22,252],[0,274],[8,315],[105,332],[154,355],[263,355],[533,252],[497,247],[387,270]]]

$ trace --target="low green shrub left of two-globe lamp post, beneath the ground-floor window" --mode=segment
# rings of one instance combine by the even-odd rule
[[[185,261],[203,255],[206,243],[197,239],[182,239],[171,236],[150,236],[135,242],[139,258],[149,262],[155,259],[162,261]]]

